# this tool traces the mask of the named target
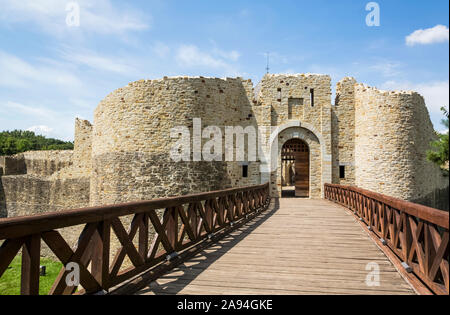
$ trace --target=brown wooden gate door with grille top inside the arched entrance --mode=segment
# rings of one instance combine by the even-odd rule
[[[295,161],[295,196],[309,197],[309,148],[300,139],[286,142],[282,149],[282,161]]]

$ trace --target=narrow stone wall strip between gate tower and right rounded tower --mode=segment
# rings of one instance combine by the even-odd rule
[[[333,183],[355,185],[355,84],[353,78],[337,83],[336,101],[332,108]],[[340,178],[339,167],[345,167]]]

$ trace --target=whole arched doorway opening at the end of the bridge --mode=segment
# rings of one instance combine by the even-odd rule
[[[309,198],[309,147],[291,139],[281,150],[282,197]]]

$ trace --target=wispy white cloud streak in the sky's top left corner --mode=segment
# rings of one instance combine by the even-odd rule
[[[149,28],[149,16],[131,9],[114,7],[111,0],[77,0],[80,6],[80,26],[68,27],[68,1],[61,0],[0,0],[0,20],[8,24],[38,25],[47,33],[62,35],[74,29],[96,34],[123,34]]]

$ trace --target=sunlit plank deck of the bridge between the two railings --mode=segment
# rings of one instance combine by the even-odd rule
[[[367,264],[380,267],[369,287]],[[356,219],[326,200],[279,205],[137,294],[414,294]]]

